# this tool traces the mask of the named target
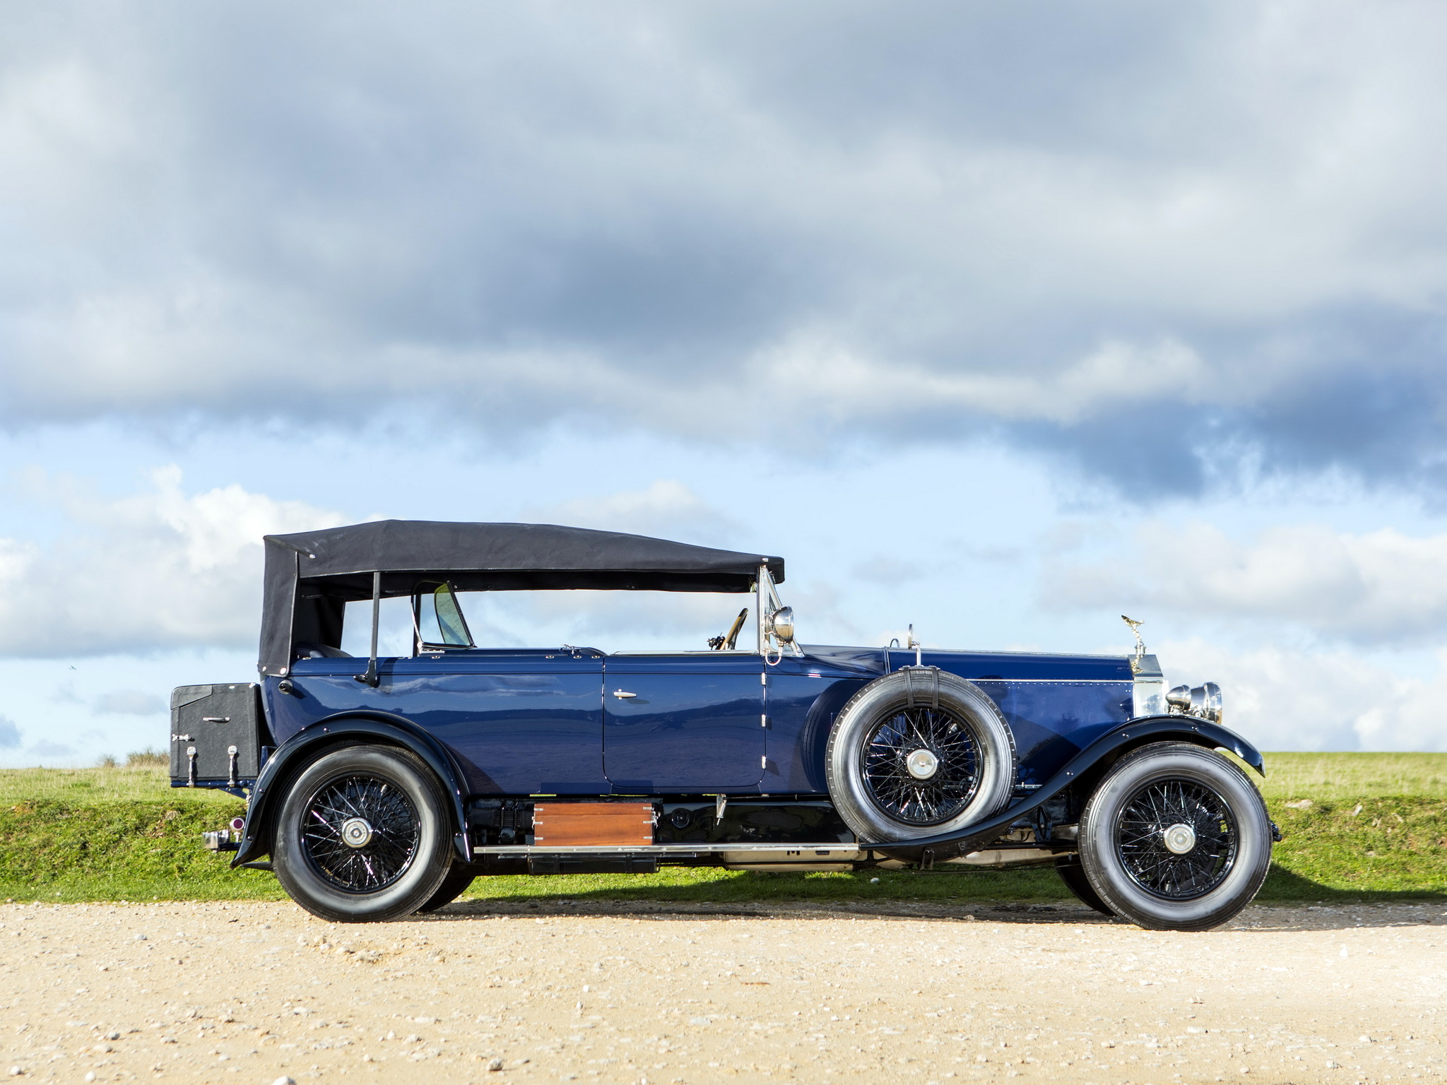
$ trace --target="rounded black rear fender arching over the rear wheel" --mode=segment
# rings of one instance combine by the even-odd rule
[[[232,859],[233,869],[260,855],[271,854],[271,827],[275,820],[275,812],[281,809],[287,796],[284,784],[297,775],[300,767],[313,761],[327,746],[337,745],[353,736],[411,749],[427,762],[427,767],[443,781],[443,787],[447,788],[447,794],[451,799],[453,846],[457,852],[457,861],[473,861],[472,846],[467,842],[464,777],[447,752],[447,748],[415,723],[401,716],[346,715],[336,719],[324,719],[298,731],[268,758],[260,775],[256,777],[256,786],[252,788],[252,797],[246,806],[246,829],[243,829],[240,849],[236,852],[236,858]],[[278,784],[282,784],[282,787],[278,787]]]

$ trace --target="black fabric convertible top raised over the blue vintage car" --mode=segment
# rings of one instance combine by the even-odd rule
[[[459,592],[747,592],[761,564],[784,579],[781,557],[556,524],[382,519],[265,542],[262,674],[285,674],[298,641],[339,648],[343,606],[372,597],[373,573],[383,596],[441,580]]]

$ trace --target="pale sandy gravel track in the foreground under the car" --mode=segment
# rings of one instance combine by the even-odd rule
[[[1447,1071],[1443,906],[0,906],[19,1081],[1378,1082]],[[1023,1085],[1023,1082],[1022,1082]]]

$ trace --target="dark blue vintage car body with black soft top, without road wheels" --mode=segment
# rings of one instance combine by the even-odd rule
[[[249,797],[240,839],[223,845],[236,849],[234,864],[273,854],[292,784],[356,745],[402,748],[425,764],[449,796],[450,861],[463,875],[504,862],[522,864],[514,872],[579,869],[583,859],[624,871],[819,856],[851,869],[1066,861],[1095,783],[1134,749],[1224,746],[1262,767],[1220,725],[1214,686],[1187,700],[1174,690],[1168,706],[1139,641],[1133,655],[797,644],[793,612],[774,590],[784,579],[777,557],[556,525],[417,521],[268,537],[266,547],[259,684],[172,696],[172,783]],[[712,651],[475,647],[460,610],[447,618],[460,641],[424,637],[424,599],[456,608],[457,593],[538,589],[732,593],[751,606]],[[408,655],[378,654],[386,597],[411,600]],[[340,650],[346,605],[363,602],[372,650],[353,657]],[[750,610],[752,647],[738,648]],[[441,610],[436,618],[440,629]],[[971,697],[997,720],[990,726],[1004,745],[983,764],[1003,768],[978,817],[878,833],[841,804],[839,781],[857,775],[841,775],[836,754],[857,746],[832,746],[832,735],[884,689],[904,690],[913,710],[916,678],[933,690],[920,696],[933,696],[935,709],[943,683],[956,706]],[[943,746],[910,742],[919,746],[910,757],[928,762],[919,778],[933,778],[930,751]],[[624,807],[651,819],[650,839],[627,848],[585,839],[589,817],[601,823]],[[535,841],[535,809],[550,809],[554,826],[573,817],[573,838]]]

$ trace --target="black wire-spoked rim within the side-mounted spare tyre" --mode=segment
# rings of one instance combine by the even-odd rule
[[[860,773],[865,794],[890,817],[941,825],[975,797],[980,762],[968,726],[941,709],[910,707],[870,731]]]

